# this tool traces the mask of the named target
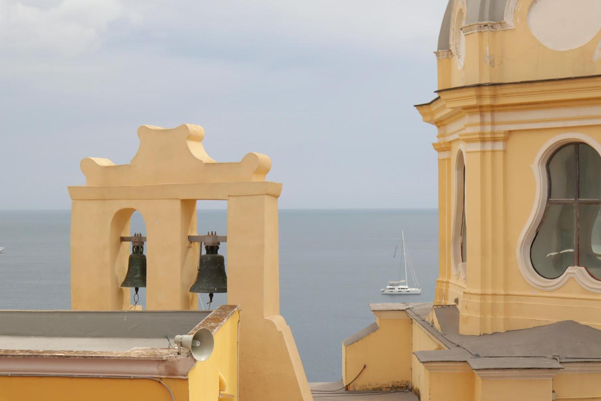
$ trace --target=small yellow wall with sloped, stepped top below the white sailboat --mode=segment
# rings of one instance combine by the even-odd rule
[[[365,364],[349,390],[406,388],[410,380],[411,319],[404,311],[374,313],[379,328],[356,343],[343,344],[343,382],[348,385]]]

